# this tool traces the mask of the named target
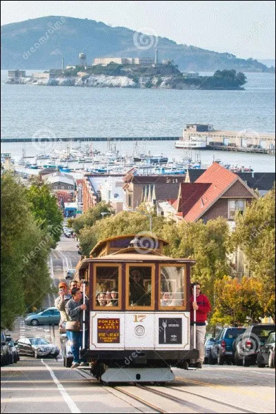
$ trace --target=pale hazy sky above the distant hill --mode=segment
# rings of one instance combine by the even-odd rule
[[[237,57],[275,57],[274,1],[1,1],[1,25],[50,15],[155,32]]]

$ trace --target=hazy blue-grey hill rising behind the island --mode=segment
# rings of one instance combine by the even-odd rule
[[[78,63],[85,52],[88,64],[95,57],[154,57],[174,61],[179,70],[210,71],[235,69],[267,72],[253,59],[238,59],[229,53],[177,44],[165,37],[139,37],[133,30],[112,28],[88,19],[49,16],[1,26],[2,69],[50,69]]]

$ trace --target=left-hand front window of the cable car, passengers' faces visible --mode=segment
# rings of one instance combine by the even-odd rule
[[[95,289],[93,302],[97,307],[120,306],[120,278],[118,266],[96,266]]]

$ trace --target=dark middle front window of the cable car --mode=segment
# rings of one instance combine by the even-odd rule
[[[152,305],[152,266],[129,266],[128,306]]]

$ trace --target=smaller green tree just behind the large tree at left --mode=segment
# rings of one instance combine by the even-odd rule
[[[46,184],[41,183],[32,184],[27,190],[27,197],[38,226],[44,232],[50,233],[53,240],[52,248],[55,248],[60,239],[63,221],[56,197],[51,195]]]

